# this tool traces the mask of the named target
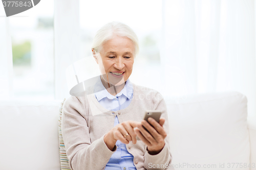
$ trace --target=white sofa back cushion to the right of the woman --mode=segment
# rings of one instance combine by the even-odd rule
[[[245,95],[229,91],[165,101],[176,170],[250,169]]]

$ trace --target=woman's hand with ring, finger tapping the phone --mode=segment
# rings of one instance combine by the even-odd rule
[[[120,140],[124,144],[128,144],[129,141],[133,141],[133,144],[135,144],[137,140],[134,128],[138,127],[138,125],[141,125],[141,123],[132,120],[122,122],[106,133],[104,136],[104,142],[111,151],[113,151],[117,140]],[[124,137],[126,134],[129,135]]]

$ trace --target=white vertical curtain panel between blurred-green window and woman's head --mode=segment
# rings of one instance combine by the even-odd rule
[[[79,0],[54,1],[54,92],[68,98],[67,68],[79,59]]]

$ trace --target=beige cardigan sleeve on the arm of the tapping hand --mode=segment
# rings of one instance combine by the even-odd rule
[[[75,96],[70,96],[63,104],[61,131],[69,166],[72,170],[102,169],[116,151],[111,151],[103,137],[91,143],[83,104]]]

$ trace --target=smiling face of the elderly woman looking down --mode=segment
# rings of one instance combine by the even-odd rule
[[[105,83],[118,86],[132,74],[135,46],[129,38],[115,36],[102,45],[99,54],[93,54]]]

